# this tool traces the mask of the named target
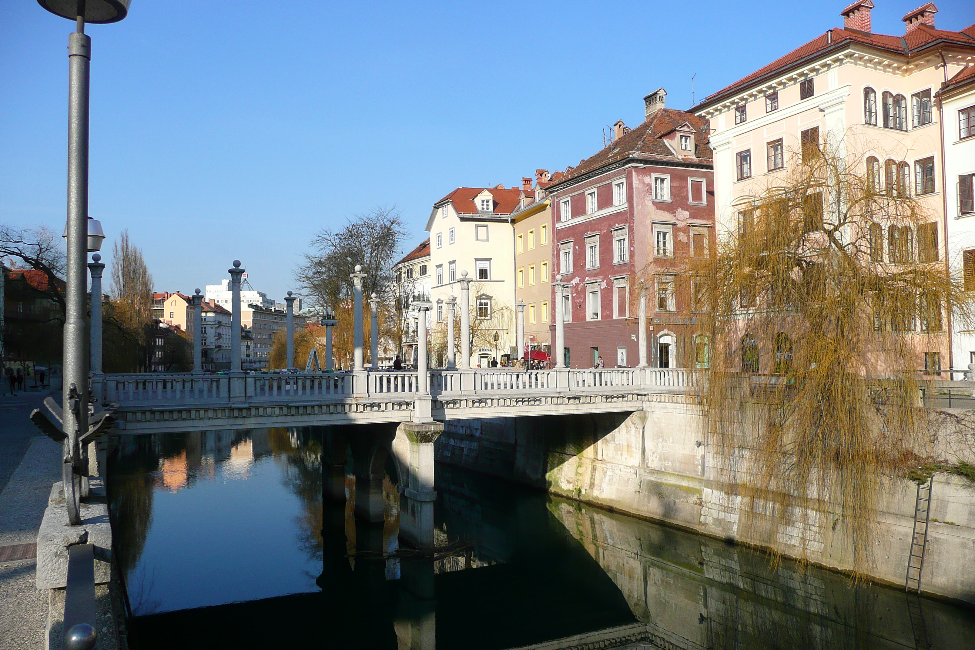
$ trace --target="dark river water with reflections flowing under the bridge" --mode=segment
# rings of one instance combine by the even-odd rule
[[[395,467],[369,524],[351,476],[323,500],[320,451],[308,430],[123,437],[133,650],[975,647],[970,609],[446,465],[421,553],[398,542]]]

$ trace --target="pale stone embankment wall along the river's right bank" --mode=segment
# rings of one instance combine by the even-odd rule
[[[437,459],[707,535],[775,548],[850,570],[851,540],[839,516],[791,511],[743,498],[725,458],[708,443],[699,406],[652,402],[643,411],[589,416],[448,422]],[[886,485],[869,575],[904,585],[917,484]],[[937,474],[922,590],[975,603],[975,489]],[[937,520],[935,520],[937,519]]]

